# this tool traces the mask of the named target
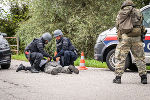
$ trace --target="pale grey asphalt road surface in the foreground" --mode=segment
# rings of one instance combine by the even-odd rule
[[[140,83],[137,72],[125,72],[122,84],[112,83],[108,69],[88,68],[76,74],[15,72],[28,62],[12,60],[9,70],[0,70],[0,100],[150,100],[148,84]]]

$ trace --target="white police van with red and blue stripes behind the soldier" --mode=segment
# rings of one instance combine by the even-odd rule
[[[145,52],[146,64],[150,64],[150,5],[141,8],[144,16],[143,25],[147,29],[147,34],[143,43]],[[102,32],[94,47],[94,59],[106,62],[108,68],[112,71],[115,70],[114,66],[114,53],[118,44],[116,28],[108,29]],[[137,70],[135,65],[135,59],[132,56],[132,52],[126,58],[125,69]]]

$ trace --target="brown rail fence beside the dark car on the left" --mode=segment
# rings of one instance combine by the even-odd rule
[[[16,49],[11,49],[12,52],[16,52],[16,54],[19,54],[19,37],[5,37],[6,39],[16,39],[16,44],[10,44],[10,47],[15,47]]]

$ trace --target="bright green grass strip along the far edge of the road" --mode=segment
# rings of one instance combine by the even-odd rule
[[[12,55],[12,59],[28,61],[24,54]],[[80,58],[78,58],[74,62],[74,64],[75,64],[75,66],[79,66],[80,65]],[[102,62],[99,62],[99,61],[96,61],[93,59],[92,60],[85,59],[85,66],[86,67],[95,67],[95,68],[107,68],[106,63],[102,63]],[[147,66],[147,70],[150,70],[150,66]]]

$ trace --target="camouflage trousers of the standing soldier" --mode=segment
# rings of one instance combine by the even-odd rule
[[[146,75],[145,54],[141,37],[128,37],[127,34],[122,34],[122,40],[115,51],[116,76],[122,76],[124,73],[125,60],[130,50],[135,58],[139,75]]]

